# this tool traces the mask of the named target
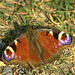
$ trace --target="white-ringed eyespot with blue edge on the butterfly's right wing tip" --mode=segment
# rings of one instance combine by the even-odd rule
[[[70,45],[71,44],[71,36],[69,34],[66,34],[65,32],[60,32],[59,33],[58,40],[63,45]]]

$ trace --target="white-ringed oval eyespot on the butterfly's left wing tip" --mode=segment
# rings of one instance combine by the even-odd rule
[[[11,47],[7,47],[6,50],[3,53],[4,59],[6,61],[11,61],[12,59],[14,59],[14,51]]]

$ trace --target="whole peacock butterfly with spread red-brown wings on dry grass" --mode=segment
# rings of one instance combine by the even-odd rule
[[[39,66],[57,59],[62,50],[73,42],[74,38],[63,31],[29,28],[7,46],[2,59],[6,64]]]

